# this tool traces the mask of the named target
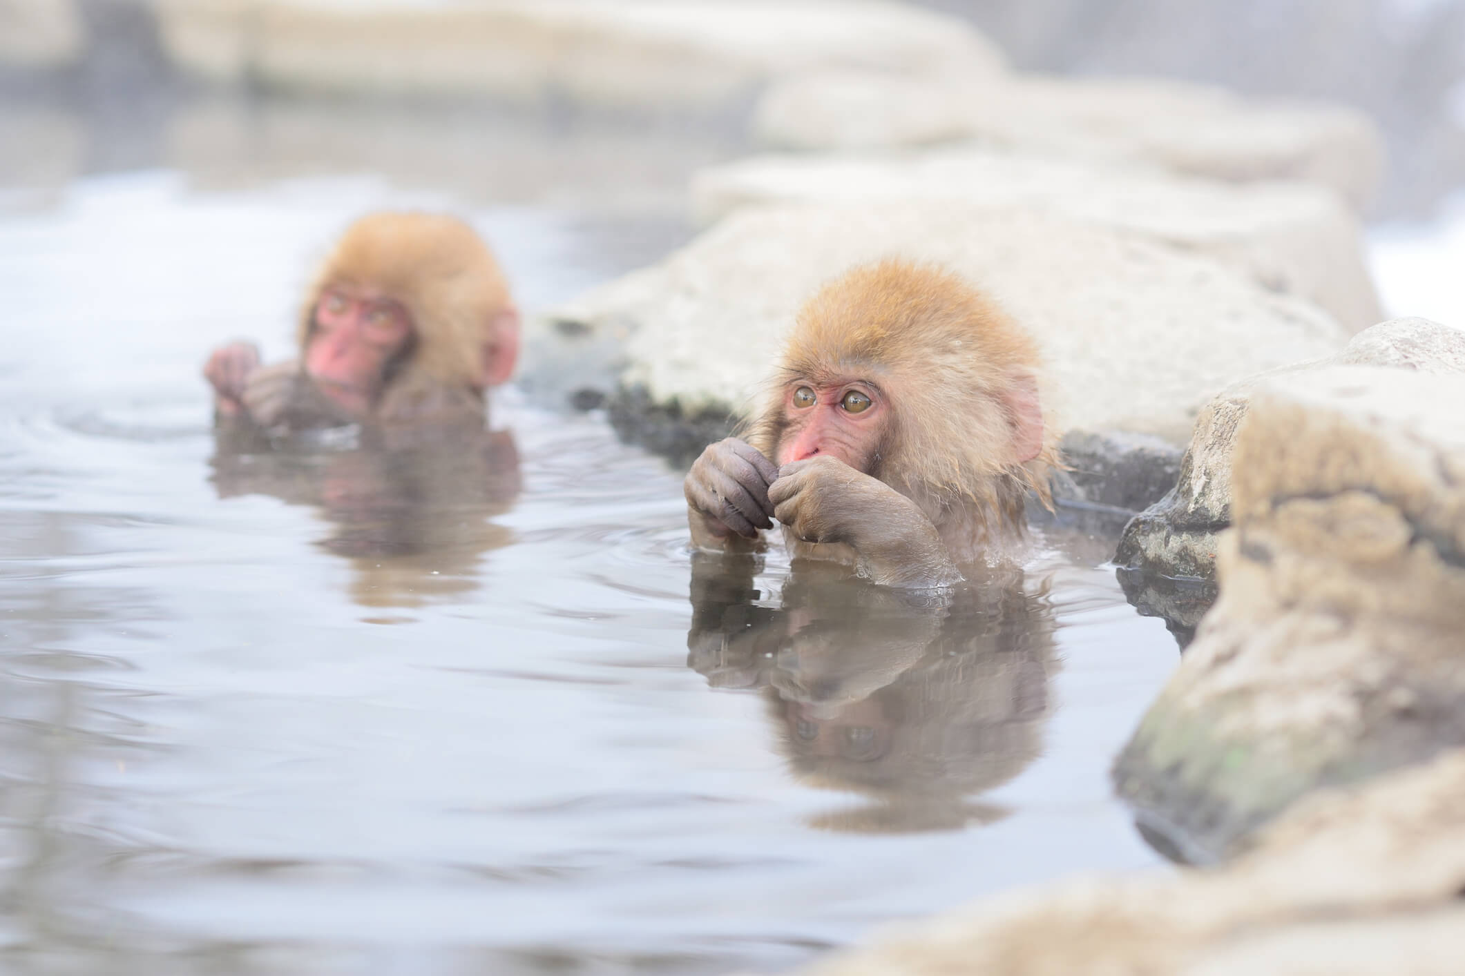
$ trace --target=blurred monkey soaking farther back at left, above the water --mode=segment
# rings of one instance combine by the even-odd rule
[[[519,356],[519,312],[498,262],[451,217],[371,214],[306,294],[300,359],[261,366],[251,342],[209,356],[220,421],[262,430],[479,420]]]

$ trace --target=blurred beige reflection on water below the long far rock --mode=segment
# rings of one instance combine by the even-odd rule
[[[583,246],[614,255],[621,269],[686,241],[687,180],[740,151],[735,136],[712,127],[607,124],[428,100],[406,108],[371,100],[205,95],[173,108],[161,138],[160,164],[186,171],[205,189],[258,186],[302,173],[360,173],[401,187],[431,187],[453,200],[444,206],[489,202],[574,212],[577,222],[595,224],[595,240]],[[605,224],[639,228],[643,221],[670,233],[631,243],[604,240]]]

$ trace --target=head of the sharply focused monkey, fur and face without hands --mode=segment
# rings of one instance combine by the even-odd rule
[[[804,304],[749,439],[775,464],[829,454],[941,503],[1046,495],[1037,369],[1033,339],[976,288],[883,260]]]

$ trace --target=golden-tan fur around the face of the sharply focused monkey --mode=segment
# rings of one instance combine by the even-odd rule
[[[867,378],[894,413],[882,478],[943,536],[986,541],[1021,533],[1028,490],[1049,503],[1047,468],[1059,464],[1053,424],[1045,417],[1042,449],[1023,462],[1009,408],[1039,369],[1033,339],[980,291],[939,268],[883,260],[804,304],[746,436],[775,457],[787,383]]]

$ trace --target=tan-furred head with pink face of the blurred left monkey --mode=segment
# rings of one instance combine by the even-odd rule
[[[366,413],[387,385],[481,392],[508,379],[519,313],[473,230],[434,214],[371,214],[327,256],[300,312],[300,359]]]

